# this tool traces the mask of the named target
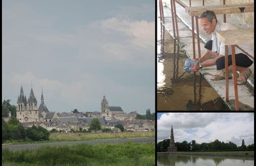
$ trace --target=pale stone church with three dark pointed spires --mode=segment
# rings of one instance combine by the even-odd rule
[[[23,87],[20,87],[20,95],[17,100],[17,119],[21,123],[26,122],[38,122],[38,121],[47,121],[47,114],[50,114],[44,103],[43,90],[41,94],[41,103],[37,107],[37,101],[31,87],[29,98],[27,100],[26,95],[24,95]]]

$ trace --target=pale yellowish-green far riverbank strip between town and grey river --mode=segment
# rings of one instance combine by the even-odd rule
[[[39,142],[95,140],[95,139],[125,139],[138,137],[155,137],[155,132],[122,132],[122,133],[51,133],[49,139]],[[31,141],[6,141],[5,144],[29,144]]]

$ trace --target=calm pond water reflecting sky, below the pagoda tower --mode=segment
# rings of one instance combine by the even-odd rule
[[[253,166],[253,157],[157,154],[157,166]]]

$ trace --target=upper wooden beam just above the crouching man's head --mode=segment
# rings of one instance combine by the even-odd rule
[[[212,10],[216,15],[230,14],[230,13],[247,13],[254,11],[254,3],[244,4],[223,4],[214,6],[194,6],[186,7],[186,13],[191,16],[201,15],[206,10]]]

